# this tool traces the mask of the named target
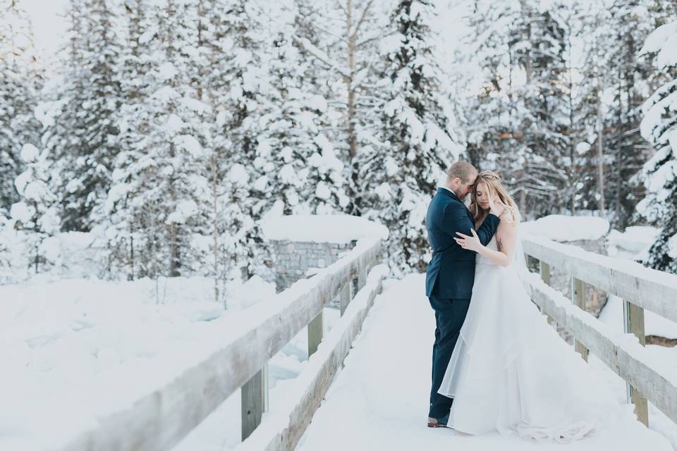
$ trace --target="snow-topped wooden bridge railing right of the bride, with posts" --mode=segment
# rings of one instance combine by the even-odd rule
[[[592,352],[626,381],[628,401],[635,404],[642,423],[649,423],[647,400],[677,422],[677,377],[644,348],[645,309],[677,321],[677,276],[532,235],[523,237],[523,247],[527,256],[539,261],[539,274],[530,273],[525,282],[549,321],[573,335],[584,359]],[[552,267],[571,278],[572,299],[549,286]],[[614,333],[583,310],[587,285],[623,299],[624,334]],[[628,333],[637,339],[628,339]]]

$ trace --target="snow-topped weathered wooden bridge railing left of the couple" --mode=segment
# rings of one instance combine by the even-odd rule
[[[374,268],[381,248],[380,239],[360,240],[331,266],[276,295],[273,309],[265,302],[238,312],[243,327],[233,330],[232,340],[130,407],[97,419],[59,449],[168,450],[241,390],[244,441],[238,449],[293,450],[381,290],[387,271]],[[323,340],[322,309],[337,296],[341,319]],[[267,363],[304,328],[312,358],[297,378],[303,386],[286,404],[288,412],[261,424],[268,407]],[[257,438],[245,440],[252,434]]]

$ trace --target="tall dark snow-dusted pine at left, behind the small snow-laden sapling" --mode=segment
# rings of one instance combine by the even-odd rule
[[[111,0],[71,0],[68,60],[54,97],[55,120],[44,136],[59,177],[62,228],[90,230],[92,211],[111,185],[119,151],[117,111],[121,104],[121,40]]]

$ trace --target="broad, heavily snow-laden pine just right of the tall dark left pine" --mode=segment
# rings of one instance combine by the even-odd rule
[[[137,77],[125,87],[118,118],[125,148],[117,156],[103,213],[111,216],[106,232],[111,246],[128,243],[130,257],[123,259],[128,277],[157,278],[194,273],[205,263],[200,244],[209,197],[199,138],[200,115],[208,107],[192,85],[195,6],[169,0],[148,14],[157,29],[141,31],[140,15],[128,24],[133,53],[123,73]]]

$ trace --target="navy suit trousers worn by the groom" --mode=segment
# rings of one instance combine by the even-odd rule
[[[456,346],[461,326],[468,314],[470,299],[442,299],[435,295],[428,298],[435,311],[435,342],[432,345],[432,388],[428,416],[439,419],[449,414],[453,399],[437,393],[446,372],[453,347]]]

